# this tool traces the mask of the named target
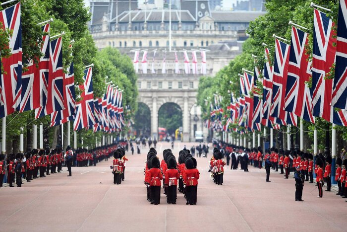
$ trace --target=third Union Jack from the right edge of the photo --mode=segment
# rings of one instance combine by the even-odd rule
[[[285,108],[286,111],[314,123],[311,91],[305,83],[311,77],[311,62],[308,61],[305,46],[308,46],[308,34],[291,27]]]

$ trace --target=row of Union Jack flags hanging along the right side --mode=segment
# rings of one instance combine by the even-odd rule
[[[337,36],[334,23],[324,12],[314,9],[313,59],[307,51],[309,34],[299,25],[291,27],[290,45],[275,37],[274,64],[265,48],[263,71],[244,71],[240,77],[240,97],[231,94],[230,115],[224,120],[224,131],[231,123],[234,131],[260,131],[261,124],[274,129],[281,125],[297,126],[298,117],[315,123],[315,117],[347,126],[347,5],[340,1]],[[282,41],[283,40],[283,41]],[[285,41],[285,42],[284,42]],[[289,41],[288,41],[289,42]],[[335,77],[329,73],[335,65]],[[259,76],[262,73],[263,78]],[[312,77],[312,86],[308,85]],[[257,87],[262,81],[263,89]],[[208,125],[216,131],[216,106],[211,106]],[[211,121],[211,123],[210,123]],[[211,127],[210,127],[211,128]]]

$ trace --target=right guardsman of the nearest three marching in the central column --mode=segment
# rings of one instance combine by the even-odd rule
[[[199,171],[194,167],[194,161],[192,158],[187,158],[185,160],[185,175],[184,175],[184,185],[186,186],[186,205],[196,204],[195,190],[197,189],[198,179],[200,177]]]

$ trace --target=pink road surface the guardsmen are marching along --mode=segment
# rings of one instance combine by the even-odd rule
[[[176,157],[184,145],[193,144],[176,142]],[[157,145],[160,159],[169,147]],[[113,184],[109,159],[97,166],[72,167],[72,177],[63,167],[62,173],[24,181],[22,188],[1,188],[0,231],[346,231],[347,202],[335,191],[317,198],[316,186],[305,182],[304,202],[295,202],[292,177],[283,179],[271,170],[267,183],[264,169],[249,167],[244,172],[230,166],[219,186],[207,171],[211,151],[208,158],[197,158],[197,205],[185,205],[178,192],[177,204],[169,205],[163,189],[161,204],[150,205],[143,184],[147,147],[141,155],[126,153],[129,161],[121,185]]]

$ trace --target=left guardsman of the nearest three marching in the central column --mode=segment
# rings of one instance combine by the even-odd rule
[[[151,204],[158,205],[160,204],[160,188],[162,186],[161,180],[163,179],[163,175],[160,170],[160,161],[158,157],[151,158],[152,168],[148,171],[151,188]]]

